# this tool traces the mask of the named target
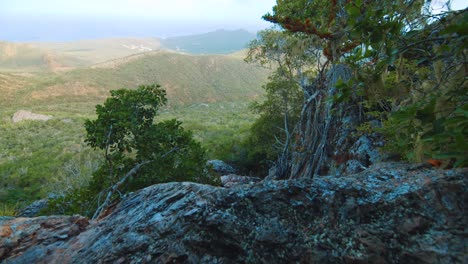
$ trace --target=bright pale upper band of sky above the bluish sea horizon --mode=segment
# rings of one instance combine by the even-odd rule
[[[257,21],[275,0],[0,0],[2,13]]]

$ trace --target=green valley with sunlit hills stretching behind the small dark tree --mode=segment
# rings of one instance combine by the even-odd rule
[[[209,158],[223,158],[248,133],[250,102],[261,99],[270,73],[245,63],[241,46],[197,55],[149,38],[1,42],[0,51],[0,205],[9,207],[87,183],[102,154],[84,143],[83,123],[110,90],[160,84],[168,104],[158,120],[181,120]],[[20,110],[52,119],[13,123]]]

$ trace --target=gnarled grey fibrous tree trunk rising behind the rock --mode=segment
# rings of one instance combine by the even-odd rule
[[[343,161],[352,145],[349,138],[359,123],[359,107],[353,98],[338,104],[332,98],[338,80],[347,82],[351,77],[347,65],[337,64],[329,70],[326,80],[318,80],[311,87],[312,96],[303,106],[296,129],[290,178],[312,178],[344,170]]]

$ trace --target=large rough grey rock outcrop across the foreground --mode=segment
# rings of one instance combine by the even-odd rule
[[[0,219],[4,263],[467,263],[467,169],[154,185],[97,221]]]

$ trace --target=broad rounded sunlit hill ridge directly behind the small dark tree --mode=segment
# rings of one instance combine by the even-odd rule
[[[52,112],[80,103],[93,108],[109,90],[153,83],[166,89],[170,105],[252,100],[262,93],[267,76],[267,70],[235,56],[151,52],[33,77],[30,85],[14,91],[15,101],[10,104]],[[7,95],[12,92],[0,89]]]

